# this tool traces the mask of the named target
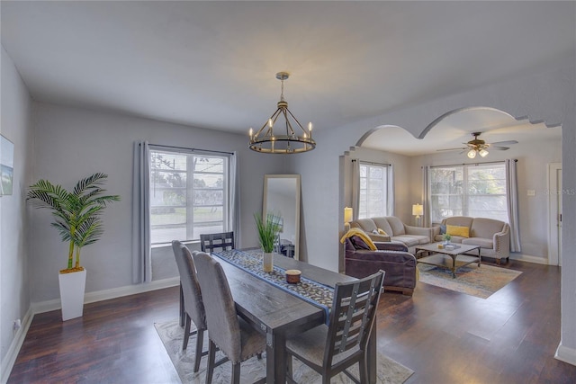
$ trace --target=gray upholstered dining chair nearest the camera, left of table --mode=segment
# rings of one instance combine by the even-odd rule
[[[228,280],[220,263],[211,255],[193,255],[198,268],[198,280],[203,292],[206,324],[208,326],[208,370],[206,383],[210,384],[214,368],[223,362],[232,363],[232,383],[240,382],[240,362],[266,350],[266,336],[238,317]],[[216,346],[226,356],[214,362]],[[266,383],[266,378],[257,383]]]

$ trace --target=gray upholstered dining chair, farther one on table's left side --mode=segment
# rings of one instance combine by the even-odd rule
[[[196,352],[194,355],[194,368],[193,371],[197,372],[200,369],[200,360],[202,356],[208,352],[202,353],[202,344],[204,339],[204,331],[206,326],[206,313],[202,303],[202,292],[200,290],[200,283],[196,274],[193,257],[187,246],[184,246],[178,240],[172,242],[172,250],[174,251],[176,264],[178,265],[178,272],[180,273],[180,294],[184,306],[182,308],[184,319],[184,341],[182,343],[182,350],[185,351],[188,346],[188,339],[190,335],[196,335]],[[196,329],[190,332],[193,321]]]

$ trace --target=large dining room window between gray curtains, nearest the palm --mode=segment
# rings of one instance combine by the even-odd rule
[[[150,242],[229,228],[229,155],[150,147]]]

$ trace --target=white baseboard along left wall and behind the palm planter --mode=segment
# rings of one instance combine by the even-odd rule
[[[138,293],[148,292],[150,290],[162,290],[164,288],[175,287],[180,284],[179,277],[173,277],[170,279],[164,279],[159,281],[145,282],[142,284],[129,285],[127,287],[113,288],[112,290],[99,290],[96,292],[88,292],[84,296],[84,303],[94,303],[96,301],[102,301],[107,299],[116,299],[123,296],[135,295]],[[28,329],[31,326],[32,319],[37,313],[49,312],[51,310],[60,309],[60,299],[53,299],[47,301],[41,301],[38,303],[31,303],[30,308],[24,315],[22,320],[22,326],[14,335],[14,339],[8,348],[3,361],[2,361],[2,376],[0,377],[0,382],[2,384],[8,381],[10,372],[14,367],[14,362],[16,362],[16,357],[20,352],[20,348],[24,342],[24,338],[28,333]]]

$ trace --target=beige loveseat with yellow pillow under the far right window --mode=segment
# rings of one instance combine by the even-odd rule
[[[509,259],[510,226],[504,221],[454,216],[443,219],[440,226],[432,230],[436,241],[442,241],[444,233],[448,233],[452,236],[451,243],[480,246],[480,255],[494,258],[498,264],[502,259]]]

